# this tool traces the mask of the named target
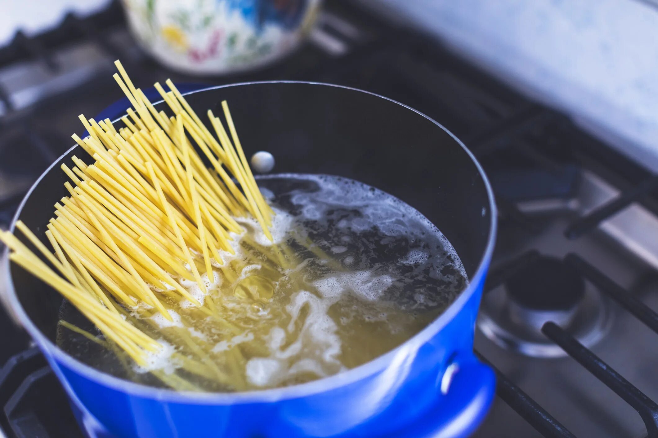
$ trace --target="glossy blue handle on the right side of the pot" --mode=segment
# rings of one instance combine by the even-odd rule
[[[440,401],[406,426],[405,436],[468,437],[484,420],[495,393],[492,368],[469,351],[449,363],[439,383]]]

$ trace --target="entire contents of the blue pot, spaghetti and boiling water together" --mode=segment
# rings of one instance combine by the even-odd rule
[[[89,137],[73,138],[94,162],[61,165],[70,196],[47,225],[52,250],[16,223],[48,263],[0,234],[64,296],[58,343],[78,359],[178,390],[306,382],[399,345],[465,286],[447,240],[406,204],[337,177],[261,179],[264,196],[225,101],[211,133],[171,81],[155,84],[168,115],[116,66],[132,108],[118,130],[80,116]],[[76,342],[105,353],[79,357]]]

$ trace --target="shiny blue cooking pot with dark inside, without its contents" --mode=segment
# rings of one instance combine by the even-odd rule
[[[468,436],[495,386],[492,370],[472,352],[496,227],[478,162],[436,121],[365,91],[278,81],[188,94],[198,114],[223,99],[247,155],[268,150],[276,172],[341,175],[401,198],[450,240],[470,283],[416,336],[347,372],[263,391],[184,393],[121,380],[64,353],[55,344],[61,297],[5,261],[13,311],[63,383],[82,428],[90,436],[140,438]],[[74,154],[85,152],[75,146],[51,165],[16,213],[14,221],[39,238],[66,194],[59,165]]]

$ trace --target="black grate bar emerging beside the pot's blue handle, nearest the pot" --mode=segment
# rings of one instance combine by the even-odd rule
[[[512,383],[505,374],[501,373],[491,362],[487,361],[478,353],[480,361],[485,362],[493,368],[496,374],[496,394],[509,407],[514,409],[530,426],[537,429],[546,438],[576,438],[567,427],[562,426],[551,414],[546,412],[542,406],[534,401],[520,387]]]

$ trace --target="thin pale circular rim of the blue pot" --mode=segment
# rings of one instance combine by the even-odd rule
[[[451,305],[449,305],[441,315],[439,315],[436,319],[430,322],[430,324],[428,324],[425,328],[420,330],[420,332],[418,332],[411,338],[407,339],[407,341],[405,341],[401,345],[398,345],[391,351],[388,351],[388,353],[384,353],[384,355],[376,357],[375,359],[372,359],[372,361],[368,361],[365,364],[352,368],[351,370],[339,372],[338,374],[334,374],[332,376],[328,376],[326,378],[321,378],[318,380],[313,380],[312,382],[300,383],[297,385],[291,385],[287,387],[257,389],[257,390],[242,391],[236,393],[198,393],[193,391],[175,391],[173,389],[158,388],[158,387],[143,385],[141,383],[130,382],[129,380],[124,380],[112,376],[111,374],[101,372],[93,368],[92,366],[85,364],[84,362],[78,361],[78,359],[74,359],[74,357],[68,355],[68,353],[65,353],[62,349],[59,349],[59,347],[57,347],[55,343],[53,343],[49,338],[47,338],[47,336],[41,333],[41,331],[36,327],[36,325],[32,322],[32,320],[30,320],[27,313],[24,311],[22,305],[20,304],[20,301],[18,300],[18,296],[16,296],[16,290],[14,289],[13,278],[11,278],[10,261],[8,257],[9,248],[5,248],[5,253],[4,253],[5,257],[3,257],[3,267],[1,267],[0,269],[4,270],[4,274],[6,276],[5,278],[7,278],[7,298],[9,301],[9,305],[11,305],[14,312],[16,313],[16,316],[18,317],[20,324],[22,324],[22,326],[28,331],[30,336],[32,336],[34,341],[36,341],[36,343],[39,345],[39,348],[45,355],[49,355],[52,359],[55,359],[55,361],[59,362],[59,364],[63,364],[70,370],[73,370],[74,372],[84,376],[88,380],[97,382],[101,385],[104,385],[116,391],[128,393],[136,397],[155,399],[165,403],[182,403],[182,404],[198,404],[198,405],[234,405],[237,403],[267,403],[272,401],[281,401],[285,399],[306,397],[309,395],[314,395],[316,393],[330,391],[332,389],[336,389],[338,387],[348,385],[349,383],[357,382],[359,380],[362,380],[363,378],[366,378],[367,376],[375,374],[376,372],[386,368],[386,365],[392,361],[393,357],[395,357],[395,355],[397,355],[397,353],[399,353],[401,349],[411,349],[411,347],[418,348],[420,347],[420,345],[426,343],[426,341],[428,341],[430,338],[436,335],[440,330],[442,330],[442,328],[449,321],[451,321],[455,317],[455,315],[459,313],[459,311],[461,311],[461,309],[467,303],[470,296],[475,292],[475,290],[478,288],[478,286],[484,279],[484,275],[488,269],[489,263],[492,258],[493,245],[495,243],[495,234],[497,230],[497,210],[495,206],[495,200],[493,198],[493,190],[489,183],[488,178],[486,177],[486,174],[484,173],[484,170],[482,169],[482,166],[480,165],[478,160],[476,160],[472,152],[470,152],[470,150],[468,150],[465,144],[463,144],[463,142],[457,139],[457,137],[455,137],[453,133],[445,129],[445,127],[443,127],[443,125],[438,123],[438,121],[430,118],[429,116],[426,116],[422,112],[419,112],[411,108],[410,106],[402,104],[401,102],[397,102],[397,100],[389,99],[388,97],[384,97],[376,93],[371,93],[370,91],[364,91],[353,87],[346,87],[344,85],[336,85],[332,83],[322,83],[322,82],[314,82],[314,81],[249,81],[249,82],[241,82],[241,83],[232,83],[228,85],[218,85],[215,87],[207,87],[196,91],[191,91],[189,93],[184,93],[184,95],[202,93],[205,91],[222,89],[227,87],[276,84],[276,83],[293,83],[293,84],[301,84],[301,85],[320,85],[324,87],[337,87],[351,91],[357,91],[359,93],[367,93],[368,95],[372,95],[374,97],[379,97],[380,99],[388,100],[389,102],[393,102],[395,104],[401,105],[404,108],[407,108],[408,110],[417,113],[419,116],[422,116],[427,120],[432,121],[432,123],[436,124],[440,129],[443,129],[445,133],[450,135],[450,137],[452,137],[452,139],[459,146],[461,146],[461,148],[463,148],[463,150],[468,154],[468,157],[472,160],[476,169],[478,169],[478,173],[480,173],[480,176],[482,177],[482,181],[487,191],[489,208],[490,208],[490,217],[491,217],[486,248],[484,250],[482,258],[480,259],[480,262],[478,263],[478,268],[475,274],[470,279],[467,288],[463,290],[461,294],[459,294],[457,299],[455,299],[455,301],[453,301],[453,303],[451,303]],[[160,102],[163,102],[163,100],[159,100],[153,103],[157,104]],[[116,120],[120,120],[120,118],[117,118]],[[49,173],[49,171],[51,171],[51,169],[53,169],[55,165],[58,165],[61,162],[61,160],[66,158],[66,156],[68,156],[68,154],[74,148],[76,148],[76,146],[77,144],[66,150],[64,154],[62,154],[59,158],[57,158],[57,160],[55,160],[53,164],[51,164],[47,169],[45,169],[45,171],[43,171],[41,176],[39,176],[39,178],[35,181],[35,183],[30,187],[30,190],[28,190],[27,194],[20,202],[20,205],[16,210],[16,214],[14,215],[11,221],[11,227],[9,228],[11,232],[14,232],[16,221],[18,220],[18,217],[20,216],[20,213],[23,207],[25,206],[28,198],[30,198],[30,195],[34,191],[34,188],[36,188],[36,186],[41,182],[41,179],[43,179],[43,177],[45,177],[45,175],[47,175],[47,173]]]

